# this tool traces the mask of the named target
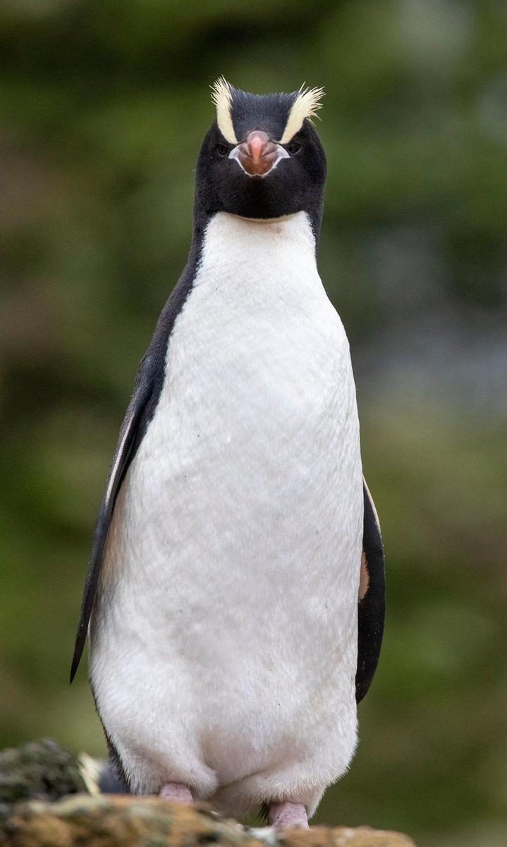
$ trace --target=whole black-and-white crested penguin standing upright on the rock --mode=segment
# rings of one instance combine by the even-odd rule
[[[383,634],[344,326],[317,271],[320,88],[221,77],[188,262],[96,520],[71,681],[134,794],[306,828],[350,766]]]

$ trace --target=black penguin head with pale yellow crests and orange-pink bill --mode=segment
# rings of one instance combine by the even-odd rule
[[[320,88],[249,94],[217,80],[217,119],[197,160],[196,211],[251,219],[303,211],[317,233],[326,157],[311,118],[322,95]]]

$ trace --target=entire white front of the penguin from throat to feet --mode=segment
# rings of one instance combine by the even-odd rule
[[[311,806],[355,746],[359,429],[313,250],[304,213],[209,224],[91,628],[136,789],[180,780],[235,813],[277,784]]]

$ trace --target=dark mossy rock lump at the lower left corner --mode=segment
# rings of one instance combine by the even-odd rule
[[[54,741],[42,739],[0,752],[0,811],[20,800],[58,800],[87,790],[80,763]]]

